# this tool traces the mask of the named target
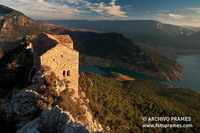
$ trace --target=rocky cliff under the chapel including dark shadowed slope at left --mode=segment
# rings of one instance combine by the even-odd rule
[[[16,121],[14,127],[17,128],[17,133],[102,132],[101,124],[94,119],[88,106],[89,100],[82,99],[87,99],[84,94],[75,97],[69,81],[60,79],[48,66],[35,70],[32,65],[32,50],[26,48],[25,44],[21,45],[11,55],[4,56],[0,68],[1,72],[11,73],[8,79],[4,74],[0,74],[0,79],[4,78],[0,88],[1,98],[4,97],[0,100],[0,111],[4,110],[8,117],[12,117],[12,121]],[[30,67],[23,67],[30,65],[31,70]],[[18,77],[22,82],[15,79],[15,74],[23,75],[23,78]],[[15,92],[11,92],[14,88],[7,82],[10,82],[11,86],[17,86]],[[24,89],[19,84],[24,86]]]

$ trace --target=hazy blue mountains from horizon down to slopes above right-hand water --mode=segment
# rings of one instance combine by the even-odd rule
[[[141,45],[164,49],[171,53],[193,53],[200,48],[200,45],[193,45],[179,38],[179,36],[190,36],[195,31],[153,20],[46,20],[45,22],[100,32],[119,32]]]

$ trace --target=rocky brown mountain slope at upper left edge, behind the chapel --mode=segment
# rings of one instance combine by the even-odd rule
[[[32,20],[19,11],[0,5],[0,44],[9,45],[10,42],[22,39],[24,35],[38,35],[50,31],[49,27],[43,22]],[[7,51],[7,48],[3,47],[3,50]]]

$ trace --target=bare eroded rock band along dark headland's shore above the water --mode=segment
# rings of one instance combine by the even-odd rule
[[[161,80],[166,81],[181,81],[182,80],[182,68],[183,66],[180,63],[177,63],[175,68],[170,69],[168,72],[164,72],[162,70],[153,71],[151,69],[147,69],[143,66],[138,66],[136,64],[125,63],[122,61],[113,61],[109,59],[103,59],[99,57],[87,56],[87,55],[80,55],[80,62],[87,64],[87,65],[96,65],[100,67],[118,67],[127,69],[133,72],[138,72],[150,77],[154,77]],[[140,64],[148,64],[148,61],[140,61]]]

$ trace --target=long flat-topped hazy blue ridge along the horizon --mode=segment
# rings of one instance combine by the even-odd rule
[[[53,24],[63,24],[70,27],[79,27],[102,32],[119,32],[125,35],[158,34],[172,35],[180,34],[191,35],[192,30],[180,26],[164,24],[154,20],[43,20]]]

